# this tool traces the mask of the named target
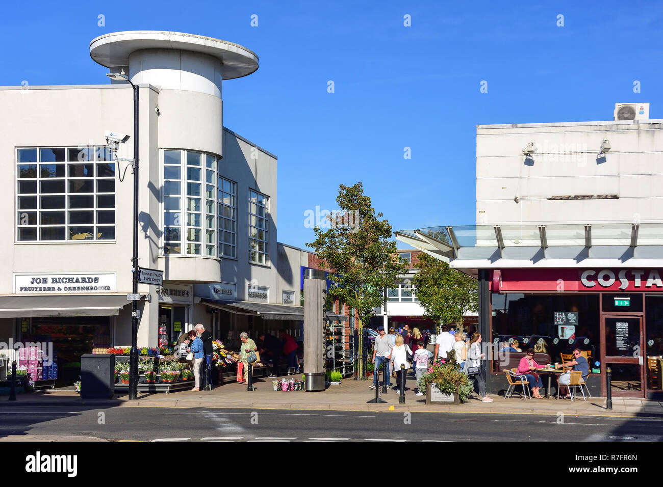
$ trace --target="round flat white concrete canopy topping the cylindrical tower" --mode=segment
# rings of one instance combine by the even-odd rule
[[[223,80],[248,76],[258,69],[258,55],[244,46],[212,37],[162,30],[104,34],[90,42],[90,57],[107,68],[129,66],[129,55],[144,49],[178,49],[208,54],[221,62]]]

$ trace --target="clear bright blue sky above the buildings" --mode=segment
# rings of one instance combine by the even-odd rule
[[[655,1],[9,2],[3,14],[0,85],[106,83],[88,46],[119,30],[255,51],[259,70],[223,85],[223,122],[278,156],[278,241],[295,246],[314,239],[306,210],[337,209],[339,184],[363,182],[394,230],[474,223],[477,124],[611,120],[629,102],[663,118]]]

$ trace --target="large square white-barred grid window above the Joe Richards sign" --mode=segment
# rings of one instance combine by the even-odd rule
[[[115,240],[115,162],[100,161],[105,147],[19,148],[17,241]]]

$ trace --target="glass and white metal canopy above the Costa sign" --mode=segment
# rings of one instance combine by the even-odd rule
[[[470,275],[491,268],[663,267],[663,223],[464,225],[394,236]]]

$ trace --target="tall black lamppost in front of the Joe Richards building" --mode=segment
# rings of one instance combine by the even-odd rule
[[[133,294],[138,294],[138,89],[125,74],[107,73],[114,81],[127,81],[133,89]],[[111,147],[111,150],[113,148]],[[117,150],[117,146],[116,146]],[[136,299],[131,301],[131,352],[129,352],[129,399],[138,399],[138,317]]]

